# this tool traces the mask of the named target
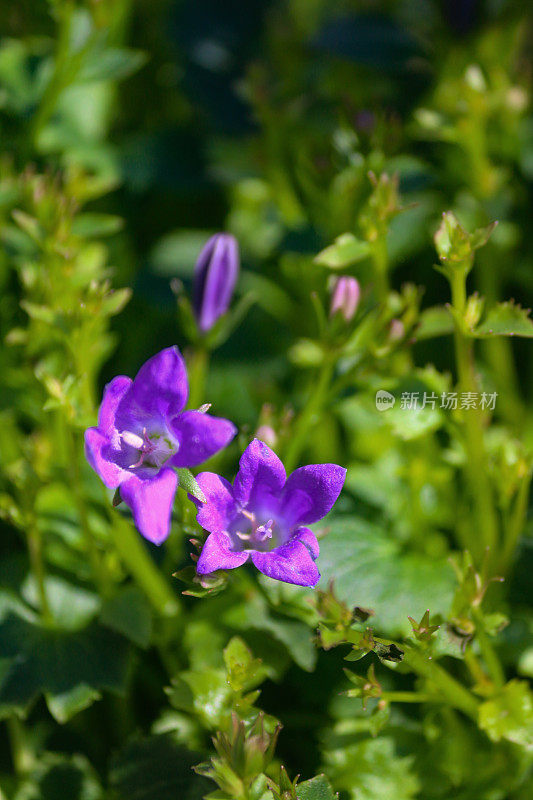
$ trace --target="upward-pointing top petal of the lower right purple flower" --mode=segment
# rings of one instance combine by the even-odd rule
[[[264,442],[253,439],[241,456],[239,471],[233,483],[233,496],[242,506],[254,510],[275,501],[283,489],[287,475],[277,455]]]

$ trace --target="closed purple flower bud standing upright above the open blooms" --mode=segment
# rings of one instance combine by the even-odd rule
[[[193,308],[205,333],[228,310],[239,273],[239,246],[229,233],[216,233],[204,245],[194,268]]]

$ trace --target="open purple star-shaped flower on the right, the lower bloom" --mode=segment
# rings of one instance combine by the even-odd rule
[[[244,451],[233,486],[202,472],[197,481],[207,502],[192,499],[197,520],[210,535],[197,572],[234,569],[251,559],[270,578],[314,586],[320,579],[319,547],[306,526],[330,511],[345,475],[336,464],[312,464],[287,478],[277,455],[259,439]]]

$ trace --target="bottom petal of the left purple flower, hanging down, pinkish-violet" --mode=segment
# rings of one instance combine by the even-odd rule
[[[161,544],[169,534],[177,485],[174,470],[164,468],[156,475],[133,475],[120,487],[122,499],[133,512],[136,528],[154,544]]]

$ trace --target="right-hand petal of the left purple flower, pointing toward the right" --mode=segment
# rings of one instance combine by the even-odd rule
[[[173,467],[196,467],[231,442],[237,428],[228,419],[201,411],[184,411],[170,422],[179,450],[172,456]]]

